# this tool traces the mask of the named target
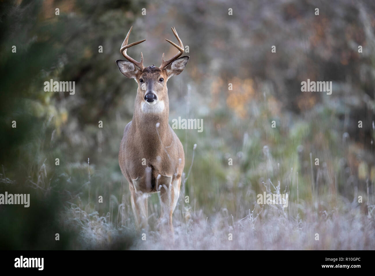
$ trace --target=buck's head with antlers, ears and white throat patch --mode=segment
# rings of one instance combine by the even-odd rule
[[[165,39],[170,44],[178,49],[178,53],[175,54],[171,59],[164,60],[164,53],[162,56],[162,63],[159,67],[143,65],[143,54],[141,53],[141,61],[138,62],[126,53],[127,48],[144,42],[146,39],[141,41],[127,44],[129,40],[130,32],[133,26],[130,27],[126,38],[121,45],[120,52],[127,60],[116,60],[118,69],[127,78],[134,78],[138,83],[136,102],[141,103],[141,110],[144,112],[163,112],[165,106],[169,106],[168,90],[166,82],[172,76],[179,75],[186,66],[189,60],[188,56],[180,57],[184,53],[184,46],[181,39],[178,37],[174,27],[172,32],[178,40],[179,46],[174,42]],[[179,58],[180,57],[180,58]],[[168,109],[169,111],[169,109]]]

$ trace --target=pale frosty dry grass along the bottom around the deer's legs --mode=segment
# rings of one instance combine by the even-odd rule
[[[277,189],[277,187],[276,187]],[[276,190],[277,192],[277,190]],[[99,216],[93,211],[87,214],[76,205],[67,207],[62,214],[65,227],[80,233],[79,244],[84,248],[112,249],[124,235],[132,235],[132,244],[126,249],[141,250],[369,250],[375,248],[374,205],[366,215],[360,205],[343,199],[335,210],[315,211],[302,206],[299,215],[292,207],[281,205],[255,205],[242,219],[234,219],[226,209],[210,217],[202,210],[193,211],[178,206],[174,213],[174,243],[168,234],[154,230],[159,217],[157,212],[149,217],[149,229],[136,231],[130,202],[123,197],[119,205],[117,221],[111,214]],[[180,198],[181,199],[181,198]],[[182,203],[181,203],[182,202]],[[180,204],[184,202],[180,200]],[[291,203],[291,202],[290,202]],[[241,202],[237,202],[241,204]],[[323,206],[323,205],[321,205]],[[181,208],[184,207],[184,208]],[[156,207],[155,207],[156,208]],[[183,211],[181,211],[183,210]],[[296,213],[294,213],[296,214]],[[132,234],[130,234],[132,233]],[[316,233],[319,240],[315,240]],[[145,240],[142,240],[145,237]],[[229,236],[233,237],[229,240]],[[125,249],[125,248],[122,248]]]

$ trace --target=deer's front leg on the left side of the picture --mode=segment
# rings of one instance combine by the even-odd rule
[[[147,193],[136,192],[133,185],[130,183],[129,190],[136,228],[147,228]]]

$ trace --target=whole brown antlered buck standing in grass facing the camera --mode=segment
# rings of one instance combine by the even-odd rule
[[[128,44],[130,27],[121,45],[120,52],[127,60],[116,60],[118,69],[127,78],[138,83],[133,119],[125,129],[118,153],[121,172],[129,182],[130,201],[136,226],[147,226],[147,194],[160,192],[161,216],[168,221],[173,232],[172,214],[180,195],[181,176],[185,158],[183,146],[168,123],[169,99],[166,83],[179,75],[189,60],[184,46],[174,27],[172,32],[179,45],[165,39],[178,49],[171,59],[164,60],[159,67],[144,67],[126,53],[129,47],[144,40]]]

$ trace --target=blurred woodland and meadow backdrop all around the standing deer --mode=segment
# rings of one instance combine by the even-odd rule
[[[186,174],[197,144],[174,213],[178,248],[271,249],[261,234],[269,230],[276,231],[268,241],[277,249],[374,249],[375,2],[17,0],[0,6],[0,193],[31,195],[29,208],[0,205],[1,249],[168,248],[160,239],[138,242],[118,165],[137,89],[115,63],[123,59],[119,49],[130,26],[129,42],[147,41],[128,53],[139,60],[142,51],[147,66],[159,66],[163,52],[175,54],[164,40],[175,41],[171,26],[189,47],[183,73],[168,81],[170,124],[178,116],[203,119],[201,133],[175,130]],[[45,92],[50,79],[75,81],[75,94]],[[332,81],[332,95],[301,92],[307,79]],[[277,189],[289,193],[286,210],[255,204],[258,193]],[[158,202],[150,196],[151,237],[159,237]],[[312,245],[308,233],[317,228],[330,234]],[[333,229],[343,240],[332,241]],[[250,238],[229,245],[228,231]],[[296,236],[287,243],[277,238],[291,232]],[[222,233],[223,241],[195,243],[207,233]],[[364,241],[346,241],[354,237]]]

